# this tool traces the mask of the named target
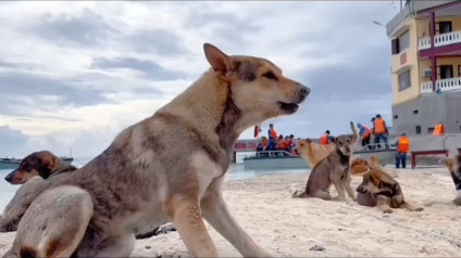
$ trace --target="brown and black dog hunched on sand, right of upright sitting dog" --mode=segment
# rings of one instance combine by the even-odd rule
[[[378,207],[385,214],[393,208],[406,208],[410,211],[422,211],[423,208],[408,204],[403,198],[400,184],[379,168],[372,168],[363,175],[362,183],[357,188],[357,203],[367,207]]]

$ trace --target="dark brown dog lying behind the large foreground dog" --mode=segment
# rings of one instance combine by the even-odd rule
[[[77,171],[77,168],[63,162],[49,151],[35,152],[27,155],[18,168],[5,177],[11,184],[23,184],[0,216],[0,232],[14,232],[30,203],[45,190]],[[167,229],[167,230],[165,230]],[[135,228],[136,238],[149,238],[174,231],[172,228]]]

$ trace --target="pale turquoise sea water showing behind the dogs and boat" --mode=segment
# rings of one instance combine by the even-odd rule
[[[248,155],[248,154],[246,154]],[[237,155],[237,164],[233,164],[229,170],[226,173],[226,180],[246,180],[261,176],[269,175],[282,175],[282,173],[307,173],[306,169],[289,169],[289,170],[277,170],[277,169],[264,169],[264,170],[247,170],[241,164],[242,158],[246,155]],[[76,167],[82,167],[91,158],[74,158],[72,163]],[[11,172],[11,169],[0,169],[0,214],[3,210],[4,206],[10,202],[14,196],[14,193],[21,185],[11,185],[4,181],[4,177]]]

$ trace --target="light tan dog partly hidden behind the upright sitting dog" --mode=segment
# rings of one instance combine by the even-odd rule
[[[312,142],[311,139],[299,140],[297,142],[296,150],[298,154],[303,157],[311,168],[315,167],[317,163],[328,156],[333,151],[335,151],[336,144],[322,145],[315,142]]]

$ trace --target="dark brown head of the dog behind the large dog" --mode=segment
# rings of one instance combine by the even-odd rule
[[[33,177],[48,179],[53,175],[75,170],[76,167],[63,162],[51,152],[40,151],[27,155],[18,168],[7,175],[4,180],[11,184],[23,184]]]

